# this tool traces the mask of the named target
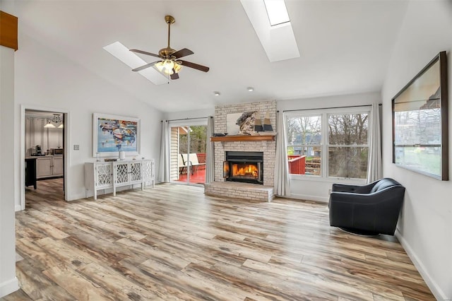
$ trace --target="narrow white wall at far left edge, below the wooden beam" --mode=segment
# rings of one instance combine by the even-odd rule
[[[18,289],[14,232],[14,50],[0,46],[0,297]]]

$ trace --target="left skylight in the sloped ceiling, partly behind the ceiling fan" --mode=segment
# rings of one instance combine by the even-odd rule
[[[122,61],[124,64],[129,66],[131,69],[137,68],[139,66],[143,66],[148,64],[146,61],[138,57],[138,55],[129,51],[129,48],[125,47],[121,44],[121,42],[114,42],[110,45],[103,47],[109,54]],[[153,68],[147,68],[141,71],[138,71],[144,78],[148,79],[155,85],[162,85],[163,83],[167,83],[168,79],[162,75],[159,71]]]

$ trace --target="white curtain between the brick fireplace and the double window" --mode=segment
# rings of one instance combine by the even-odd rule
[[[284,113],[278,112],[276,118],[276,161],[275,194],[290,196],[289,163],[287,161],[286,131]]]

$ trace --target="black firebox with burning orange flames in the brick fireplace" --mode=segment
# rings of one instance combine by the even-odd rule
[[[263,184],[263,153],[227,151],[223,177],[226,181]]]

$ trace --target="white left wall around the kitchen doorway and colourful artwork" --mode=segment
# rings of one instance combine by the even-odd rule
[[[16,135],[20,135],[21,105],[25,108],[69,113],[65,124],[66,149],[69,151],[69,162],[66,165],[68,200],[85,197],[83,166],[85,162],[95,160],[95,112],[140,118],[140,157],[155,158],[158,170],[162,119],[160,111],[139,102],[132,95],[20,31],[19,40],[20,47],[16,52]],[[74,145],[80,146],[80,150],[74,151]],[[16,149],[20,149],[17,141]],[[16,160],[15,165],[19,170],[20,160]],[[19,181],[20,177],[16,175],[16,187],[19,187]]]

